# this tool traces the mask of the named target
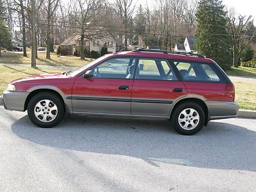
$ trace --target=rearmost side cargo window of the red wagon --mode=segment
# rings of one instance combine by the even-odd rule
[[[211,64],[194,62],[174,62],[182,79],[186,81],[220,82],[220,77]]]

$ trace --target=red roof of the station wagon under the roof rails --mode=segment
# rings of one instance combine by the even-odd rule
[[[123,51],[113,54],[118,57],[143,57],[143,58],[163,58],[172,60],[188,60],[188,61],[201,61],[211,63],[211,60],[204,58],[197,54],[190,54],[186,52],[164,52],[164,51]]]

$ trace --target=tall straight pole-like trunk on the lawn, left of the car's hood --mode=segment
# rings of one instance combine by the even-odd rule
[[[31,67],[36,67],[36,8],[35,0],[31,0],[31,28],[32,28],[32,52],[31,52]]]

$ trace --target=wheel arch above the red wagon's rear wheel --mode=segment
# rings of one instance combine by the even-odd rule
[[[195,102],[196,104],[199,104],[203,109],[204,109],[204,112],[205,112],[205,122],[204,122],[204,125],[206,126],[209,122],[209,109],[207,107],[207,105],[205,104],[204,102],[204,99],[203,98],[200,98],[200,97],[186,97],[186,98],[182,98],[180,100],[177,100],[177,102],[175,102],[173,104],[173,107],[170,111],[170,117],[172,117],[172,111],[175,110],[175,108],[177,108],[177,106],[179,106],[181,103],[184,103],[184,102]]]

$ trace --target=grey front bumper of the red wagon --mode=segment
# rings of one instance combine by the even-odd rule
[[[24,111],[28,92],[4,91],[2,97],[4,108],[12,111]]]

